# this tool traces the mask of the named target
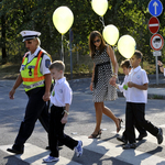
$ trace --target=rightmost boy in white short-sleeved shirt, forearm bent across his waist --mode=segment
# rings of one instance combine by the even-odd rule
[[[145,120],[148,79],[146,72],[140,66],[142,56],[143,55],[140,51],[135,51],[130,59],[132,69],[129,74],[128,87],[130,91],[127,99],[125,112],[125,132],[129,143],[123,145],[124,150],[136,147],[134,122],[144,128],[152,135],[156,136],[158,144],[163,142],[163,130]]]

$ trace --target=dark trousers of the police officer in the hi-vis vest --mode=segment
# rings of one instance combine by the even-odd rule
[[[31,136],[37,119],[48,132],[48,108],[42,99],[44,92],[44,87],[35,88],[26,92],[29,101],[13,148],[23,150],[24,143]]]

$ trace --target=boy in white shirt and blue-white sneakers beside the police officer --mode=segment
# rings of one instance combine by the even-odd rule
[[[62,61],[55,61],[51,64],[50,70],[55,86],[52,90],[51,102],[51,119],[48,130],[48,144],[51,154],[44,158],[44,162],[57,162],[59,158],[58,141],[69,147],[75,148],[77,156],[82,155],[82,142],[76,141],[64,134],[64,127],[69,114],[69,106],[72,103],[73,91],[64,77],[65,64]]]

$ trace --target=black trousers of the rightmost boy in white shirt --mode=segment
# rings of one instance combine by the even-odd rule
[[[158,129],[145,120],[145,103],[127,102],[125,131],[130,143],[135,143],[134,122],[156,136]]]

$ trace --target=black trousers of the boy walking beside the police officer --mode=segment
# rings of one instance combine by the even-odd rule
[[[64,108],[63,107],[51,107],[51,119],[50,119],[50,131],[48,131],[48,144],[51,148],[51,156],[58,157],[58,141],[74,150],[77,146],[78,141],[75,141],[70,136],[64,134],[64,127],[61,122],[62,118],[64,117]]]

